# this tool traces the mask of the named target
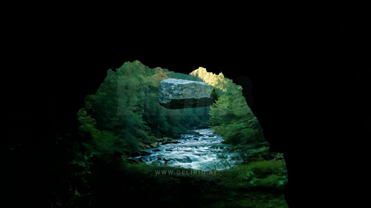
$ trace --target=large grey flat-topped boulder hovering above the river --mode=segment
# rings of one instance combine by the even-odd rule
[[[212,105],[216,99],[214,87],[207,83],[178,79],[166,79],[159,83],[159,103],[164,107],[203,107]]]

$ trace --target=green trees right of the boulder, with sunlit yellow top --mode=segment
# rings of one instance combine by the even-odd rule
[[[228,144],[253,144],[265,141],[258,119],[248,107],[242,87],[200,67],[190,73],[205,83],[216,87],[218,100],[210,107],[209,123],[215,132],[222,135]]]

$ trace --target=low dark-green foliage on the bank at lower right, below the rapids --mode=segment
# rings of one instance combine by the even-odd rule
[[[217,171],[212,189],[205,191],[212,200],[207,207],[287,207],[283,196],[287,182],[285,171],[274,174],[269,168],[266,170],[268,172],[260,176],[251,171],[249,164],[239,164],[237,168]],[[210,193],[210,190],[216,191]]]

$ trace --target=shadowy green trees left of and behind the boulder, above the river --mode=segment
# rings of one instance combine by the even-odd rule
[[[99,154],[138,153],[139,144],[158,137],[179,137],[189,129],[207,127],[210,107],[171,110],[159,105],[159,83],[166,78],[200,80],[167,69],[125,62],[109,69],[104,82],[77,114],[81,132],[88,133],[86,148]]]

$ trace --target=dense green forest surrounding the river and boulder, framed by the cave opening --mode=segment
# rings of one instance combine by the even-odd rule
[[[215,87],[218,100],[207,107],[165,108],[159,105],[158,94],[159,83],[167,78],[208,83]],[[254,192],[254,200],[240,198],[242,193],[238,193],[243,205],[264,204],[269,198],[274,205],[286,206],[282,193],[286,180],[283,157],[269,153],[258,120],[242,96],[242,87],[223,73],[216,75],[200,67],[187,75],[159,67],[150,69],[139,61],[125,62],[118,69],[109,69],[97,92],[86,96],[77,120],[77,135],[61,139],[69,146],[70,162],[67,173],[58,178],[61,184],[54,196],[56,207],[139,205],[141,200],[137,198],[144,196],[170,204],[177,201],[178,205],[186,202],[185,205],[209,206],[216,200],[214,194],[221,195],[219,200],[226,200],[230,193],[237,194],[231,190],[246,192],[255,187],[273,191]],[[250,148],[249,155],[245,154],[246,164],[221,171],[210,182],[194,177],[154,178],[150,166],[129,160],[140,155],[142,149],[157,145],[161,138],[179,138],[200,128],[214,129],[231,148]],[[255,163],[247,163],[251,161]],[[235,178],[240,180],[237,187],[232,185]],[[219,191],[203,196],[199,191],[204,189]],[[169,193],[170,190],[179,193]],[[194,201],[187,200],[189,194]],[[126,201],[120,201],[120,195],[126,195]],[[237,201],[232,205],[242,206]]]

